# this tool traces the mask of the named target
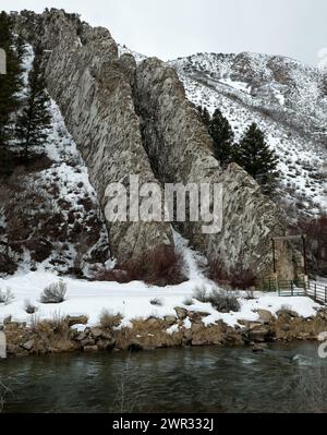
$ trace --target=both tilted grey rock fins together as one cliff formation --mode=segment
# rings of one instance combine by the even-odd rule
[[[199,230],[203,222],[185,222],[182,233],[228,274],[269,273],[270,239],[284,232],[278,210],[237,165],[219,168],[208,133],[171,68],[157,59],[136,67],[133,57],[118,56],[107,29],[92,28],[63,11],[22,13],[16,27],[45,50],[48,90],[82,152],[104,210],[108,184],[123,182],[129,190],[130,174],[161,185],[222,183],[222,230],[206,235]],[[120,261],[173,244],[168,223],[112,223],[107,218],[107,227],[111,252]]]

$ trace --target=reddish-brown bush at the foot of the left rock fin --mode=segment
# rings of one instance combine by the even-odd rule
[[[144,281],[147,285],[165,287],[185,281],[182,261],[173,246],[161,244],[155,250],[117,265],[113,270],[100,270],[96,279],[121,283]]]

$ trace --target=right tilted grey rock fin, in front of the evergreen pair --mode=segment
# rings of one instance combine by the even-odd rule
[[[183,233],[230,275],[269,268],[271,235],[283,233],[277,207],[240,167],[220,169],[207,130],[172,69],[148,59],[137,68],[135,87],[145,148],[160,181],[222,184],[221,231],[205,235],[197,222],[186,222]]]

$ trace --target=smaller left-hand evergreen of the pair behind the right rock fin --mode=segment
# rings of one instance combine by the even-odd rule
[[[234,133],[228,119],[217,109],[209,122],[209,133],[214,140],[215,157],[226,167],[233,160]]]

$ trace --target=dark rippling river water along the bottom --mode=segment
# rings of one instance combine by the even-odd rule
[[[327,412],[317,343],[0,361],[4,412]]]

